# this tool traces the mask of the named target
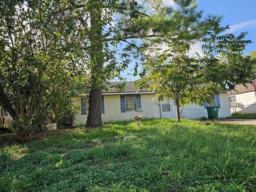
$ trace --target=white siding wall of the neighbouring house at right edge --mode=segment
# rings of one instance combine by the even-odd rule
[[[256,113],[256,95],[254,90],[232,93],[228,96],[236,96],[237,107],[231,107],[231,113]]]

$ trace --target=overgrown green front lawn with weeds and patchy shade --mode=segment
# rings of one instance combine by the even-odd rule
[[[1,149],[3,191],[256,191],[256,127],[116,122]]]

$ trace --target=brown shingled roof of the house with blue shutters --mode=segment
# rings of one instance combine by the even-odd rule
[[[103,90],[102,92],[103,93],[119,93],[119,91],[115,87],[112,87],[112,86],[116,86],[116,85],[122,84],[122,83],[124,83],[124,82],[110,82],[109,90],[108,91]],[[137,92],[137,90],[138,90],[138,87],[135,86],[135,82],[126,82],[124,91],[121,91],[121,93],[133,93],[133,92],[135,93],[135,92]],[[142,89],[139,92],[151,92],[151,91],[148,91],[147,89]]]

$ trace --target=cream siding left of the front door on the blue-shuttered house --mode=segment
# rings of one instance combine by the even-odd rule
[[[152,101],[154,94],[141,94],[141,108],[142,111],[126,111],[121,113],[120,95],[104,95],[105,113],[101,114],[102,121],[111,120],[128,120],[133,119],[134,116],[143,116],[144,118],[159,118],[159,106]],[[76,103],[81,106],[81,99],[76,98]],[[84,124],[87,115],[81,115],[81,110],[75,118],[75,124]]]

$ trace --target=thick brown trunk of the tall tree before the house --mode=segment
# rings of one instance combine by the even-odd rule
[[[88,115],[85,126],[102,126],[101,119],[101,100],[102,100],[102,69],[103,69],[103,41],[101,8],[98,7],[90,12],[91,30],[91,89],[89,92]]]

